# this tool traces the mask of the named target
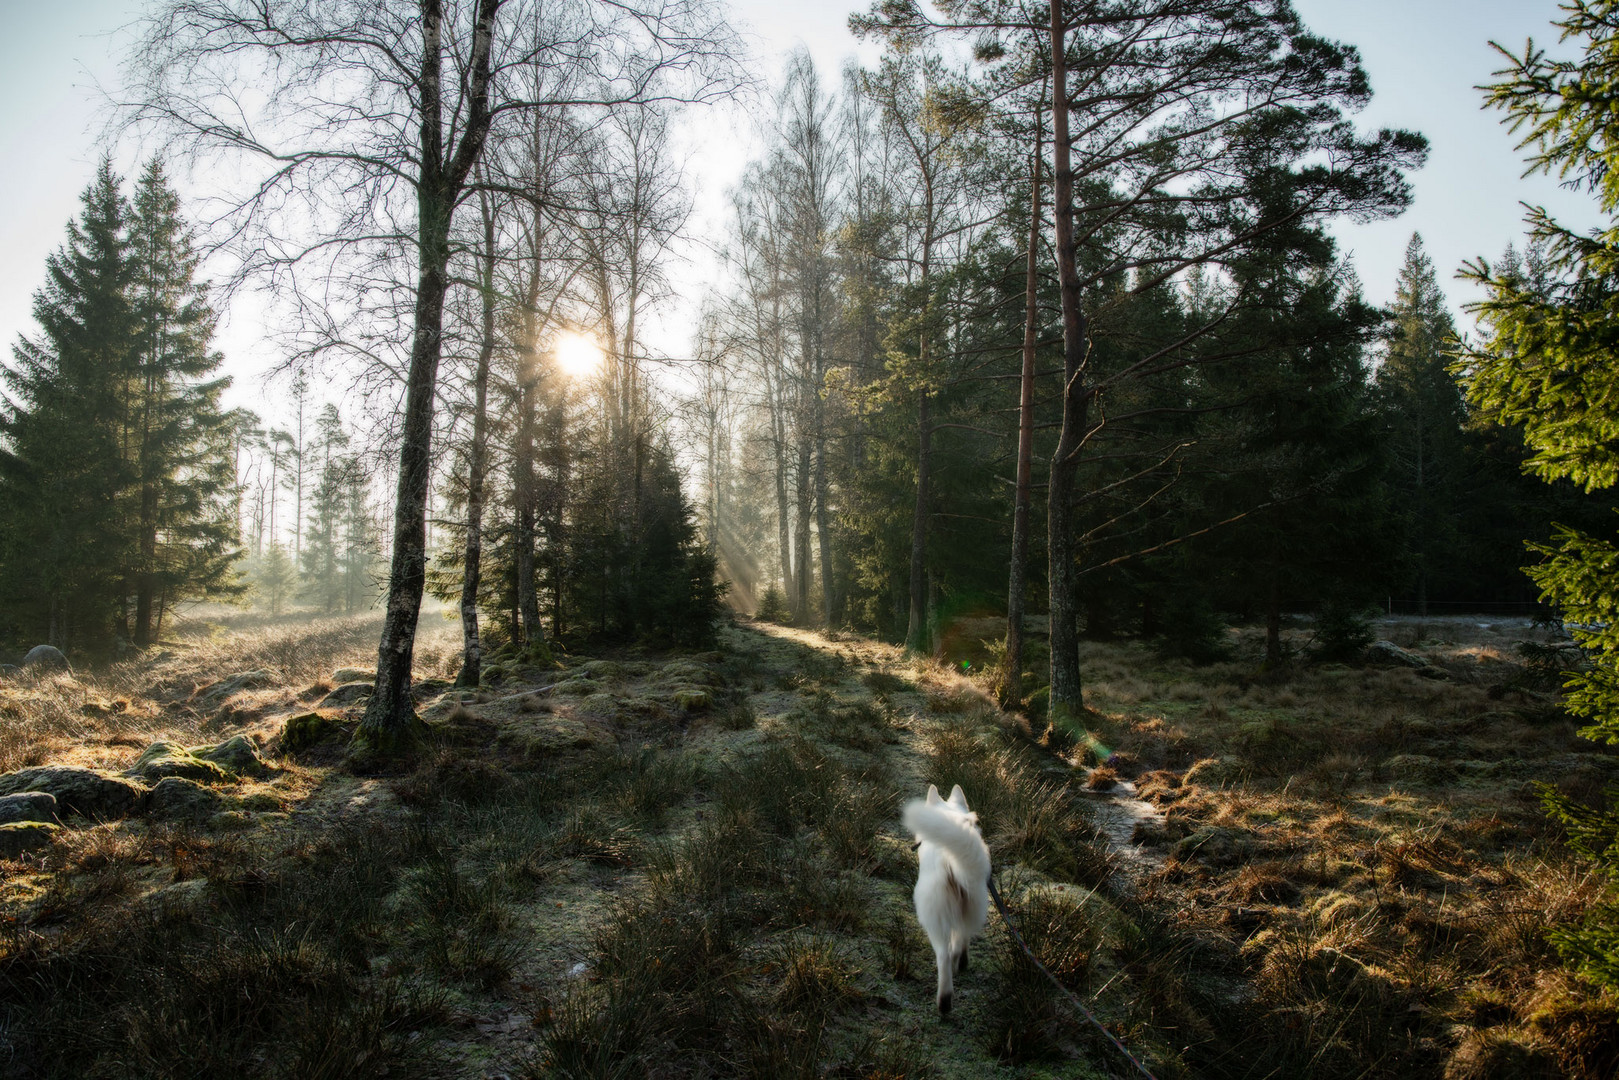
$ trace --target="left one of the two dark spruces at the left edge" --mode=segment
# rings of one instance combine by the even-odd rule
[[[34,295],[40,337],[0,368],[0,609],[6,636],[105,648],[121,617],[131,483],[125,389],[138,337],[121,181],[102,160]]]

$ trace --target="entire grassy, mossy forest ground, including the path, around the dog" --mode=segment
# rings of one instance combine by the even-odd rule
[[[1535,782],[1591,801],[1619,756],[1527,627],[1384,631],[1423,667],[1088,643],[1091,711],[1036,737],[963,674],[971,627],[949,664],[738,623],[453,690],[440,625],[397,767],[345,753],[371,619],[13,680],[0,772],[110,779],[92,818],[0,824],[0,1075],[1132,1075],[996,915],[937,1015],[899,824],[929,782],[1159,1077],[1614,1075],[1619,1002],[1548,938],[1601,881]]]

